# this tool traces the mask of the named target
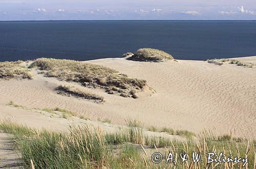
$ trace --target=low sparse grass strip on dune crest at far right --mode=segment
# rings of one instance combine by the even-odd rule
[[[235,64],[235,65],[243,66],[243,67],[254,67],[255,66],[255,64],[253,64],[253,63],[242,62],[242,61],[239,61],[236,59],[210,59],[210,60],[207,60],[207,62],[216,64],[216,65],[223,65],[225,63],[228,63],[228,64]]]

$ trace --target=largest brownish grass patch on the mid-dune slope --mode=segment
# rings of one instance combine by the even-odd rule
[[[127,75],[120,74],[117,70],[91,63],[40,58],[36,59],[30,65],[30,68],[34,66],[45,70],[44,73],[48,77],[79,82],[86,87],[102,88],[110,94],[124,93],[125,96],[133,96],[130,93],[131,91],[143,90],[147,86],[145,80],[129,78]]]

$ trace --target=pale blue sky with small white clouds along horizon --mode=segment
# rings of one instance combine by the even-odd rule
[[[0,0],[0,20],[256,20],[256,0]]]

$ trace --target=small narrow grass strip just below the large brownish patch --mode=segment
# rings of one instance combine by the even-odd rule
[[[58,90],[57,93],[61,95],[77,96],[78,98],[82,99],[94,100],[96,103],[104,102],[104,98],[102,96],[93,94],[89,91],[80,90],[76,87],[60,85],[56,88],[56,90]]]

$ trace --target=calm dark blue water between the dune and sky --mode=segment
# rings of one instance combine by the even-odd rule
[[[153,47],[177,59],[256,55],[256,21],[0,22],[0,61],[92,60]]]

